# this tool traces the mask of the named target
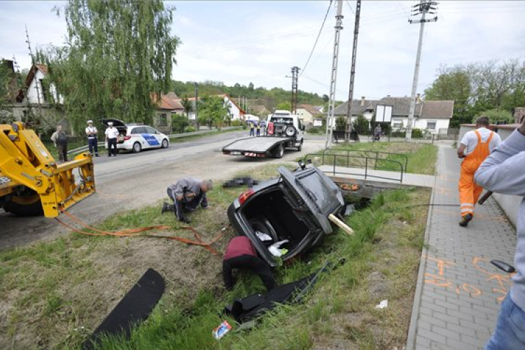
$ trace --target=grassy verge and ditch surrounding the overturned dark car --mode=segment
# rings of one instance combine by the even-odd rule
[[[263,165],[249,174],[255,179],[276,176],[276,165]],[[225,209],[243,190],[215,188],[209,193],[211,208],[192,214],[193,225],[204,241],[221,228],[228,228]],[[325,237],[314,252],[276,270],[279,283],[287,283],[315,272],[327,261],[346,258],[345,265],[323,275],[306,302],[276,308],[253,330],[239,330],[239,325],[227,318],[234,329],[220,342],[211,337],[211,330],[223,321],[218,313],[225,304],[265,288],[258,277],[241,274],[235,288],[227,292],[220,277],[221,258],[203,248],[172,241],[153,243],[140,237],[74,234],[6,249],[0,251],[0,293],[6,295],[12,308],[0,332],[8,335],[6,344],[15,335],[22,335],[38,338],[50,348],[78,349],[144,266],[158,269],[157,264],[166,262],[161,272],[167,279],[167,290],[153,314],[132,332],[130,340],[106,339],[102,349],[310,349],[339,337],[359,349],[400,348],[405,342],[411,303],[402,305],[411,302],[426,219],[420,208],[404,207],[426,203],[428,197],[426,190],[381,193],[370,207],[347,218],[355,235],[338,232]],[[120,230],[145,225],[169,225],[172,234],[192,237],[190,232],[178,230],[173,216],[160,215],[159,206],[124,211],[98,228]],[[215,248],[221,251],[232,235],[228,228]],[[152,254],[159,257],[141,255],[152,246]],[[196,274],[194,284],[198,286],[170,274],[179,269]],[[391,306],[384,313],[374,310],[380,300],[367,293],[367,275],[376,270],[391,280],[387,295]],[[363,317],[358,322],[339,320],[349,314]],[[381,330],[385,339],[378,339],[369,325]],[[0,337],[0,347],[2,344]]]

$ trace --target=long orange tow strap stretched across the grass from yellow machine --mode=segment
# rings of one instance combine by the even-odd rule
[[[189,231],[193,232],[193,235],[195,236],[195,239],[196,239],[195,241],[193,241],[191,239],[183,238],[183,237],[176,237],[176,236],[137,235],[140,232],[149,231],[149,230],[155,230],[155,229],[156,230],[168,230],[168,229],[170,229],[169,226],[165,226],[165,225],[146,226],[145,228],[137,228],[137,229],[131,229],[130,228],[130,229],[120,230],[120,231],[116,231],[116,232],[109,232],[109,231],[103,231],[103,230],[98,230],[96,228],[92,228],[90,225],[87,225],[87,223],[84,223],[79,218],[77,218],[76,216],[74,216],[71,213],[68,213],[64,209],[59,209],[59,210],[62,211],[62,213],[64,213],[66,216],[71,218],[72,221],[75,221],[76,223],[79,223],[84,228],[87,228],[87,229],[93,230],[95,232],[98,232],[98,233],[92,233],[92,232],[85,232],[85,231],[77,230],[76,228],[73,228],[73,226],[71,226],[71,225],[69,225],[67,223],[64,223],[64,221],[60,220],[59,218],[55,218],[55,220],[58,223],[60,223],[61,225],[64,225],[66,228],[69,228],[69,230],[71,230],[73,232],[80,233],[80,235],[87,235],[87,236],[116,236],[116,237],[137,236],[137,237],[151,237],[151,238],[173,239],[174,241],[180,241],[180,242],[186,243],[186,244],[193,244],[195,246],[202,246],[202,247],[206,248],[210,253],[215,254],[215,255],[219,255],[219,253],[214,248],[211,248],[211,244],[216,243],[216,241],[221,239],[223,237],[223,235],[224,235],[224,230],[222,230],[221,232],[219,232],[218,235],[216,235],[216,237],[214,237],[214,239],[212,239],[210,242],[206,243],[206,242],[202,241],[202,238],[201,238],[199,232],[197,232],[197,230],[195,230],[194,228],[190,228],[189,226],[182,226],[180,229],[181,230],[189,230]]]

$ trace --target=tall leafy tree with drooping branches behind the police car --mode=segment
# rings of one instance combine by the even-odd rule
[[[66,19],[66,45],[45,52],[45,63],[73,127],[81,132],[90,118],[150,124],[172,85],[174,8],[161,0],[69,0],[55,10]]]

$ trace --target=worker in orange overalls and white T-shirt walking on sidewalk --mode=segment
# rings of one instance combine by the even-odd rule
[[[477,118],[476,130],[465,133],[458,147],[458,157],[464,158],[459,178],[459,200],[461,202],[459,225],[463,228],[472,221],[475,204],[483,191],[483,188],[474,182],[474,174],[485,158],[501,143],[500,136],[488,129],[489,125],[489,118]]]

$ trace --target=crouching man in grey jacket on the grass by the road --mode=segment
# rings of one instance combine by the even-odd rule
[[[185,213],[194,211],[199,204],[203,209],[207,209],[208,199],[206,193],[213,187],[214,183],[211,180],[180,179],[176,183],[168,186],[167,193],[169,198],[172,199],[173,204],[164,202],[161,213],[164,214],[166,211],[174,211],[179,221],[190,223]]]

